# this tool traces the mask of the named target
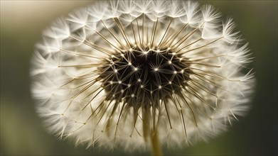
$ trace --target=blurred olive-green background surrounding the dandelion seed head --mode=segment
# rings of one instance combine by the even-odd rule
[[[50,21],[92,1],[1,1],[1,155],[149,155],[85,150],[44,130],[29,93],[34,44]],[[250,43],[257,89],[252,109],[226,133],[165,155],[277,155],[277,1],[201,1],[232,16]]]

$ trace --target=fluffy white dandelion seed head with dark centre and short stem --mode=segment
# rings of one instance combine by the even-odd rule
[[[234,27],[195,1],[97,1],[75,10],[36,44],[38,114],[51,133],[88,147],[161,155],[160,145],[213,138],[245,115],[255,82]]]

